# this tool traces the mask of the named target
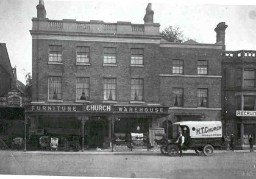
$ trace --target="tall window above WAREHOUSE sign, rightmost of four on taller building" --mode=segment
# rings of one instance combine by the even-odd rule
[[[130,100],[143,101],[143,79],[131,79]]]

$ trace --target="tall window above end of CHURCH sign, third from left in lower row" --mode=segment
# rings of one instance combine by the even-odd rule
[[[116,79],[104,78],[104,100],[116,100]]]

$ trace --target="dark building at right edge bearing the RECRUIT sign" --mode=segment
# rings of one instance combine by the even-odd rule
[[[226,109],[227,134],[235,136],[238,147],[249,146],[249,135],[255,139],[254,116],[236,116],[236,110],[255,111],[255,51],[225,51],[222,54],[222,108]]]

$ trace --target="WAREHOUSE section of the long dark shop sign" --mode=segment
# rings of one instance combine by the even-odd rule
[[[164,107],[116,107],[115,111],[121,112],[121,113],[166,113],[167,112],[167,110]]]

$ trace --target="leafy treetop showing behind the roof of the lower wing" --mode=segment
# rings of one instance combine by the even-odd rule
[[[186,38],[183,37],[183,31],[181,31],[180,27],[177,27],[177,26],[166,27],[165,30],[162,30],[162,32],[160,32],[160,35],[163,39],[171,42],[182,43],[185,40],[187,40]]]

